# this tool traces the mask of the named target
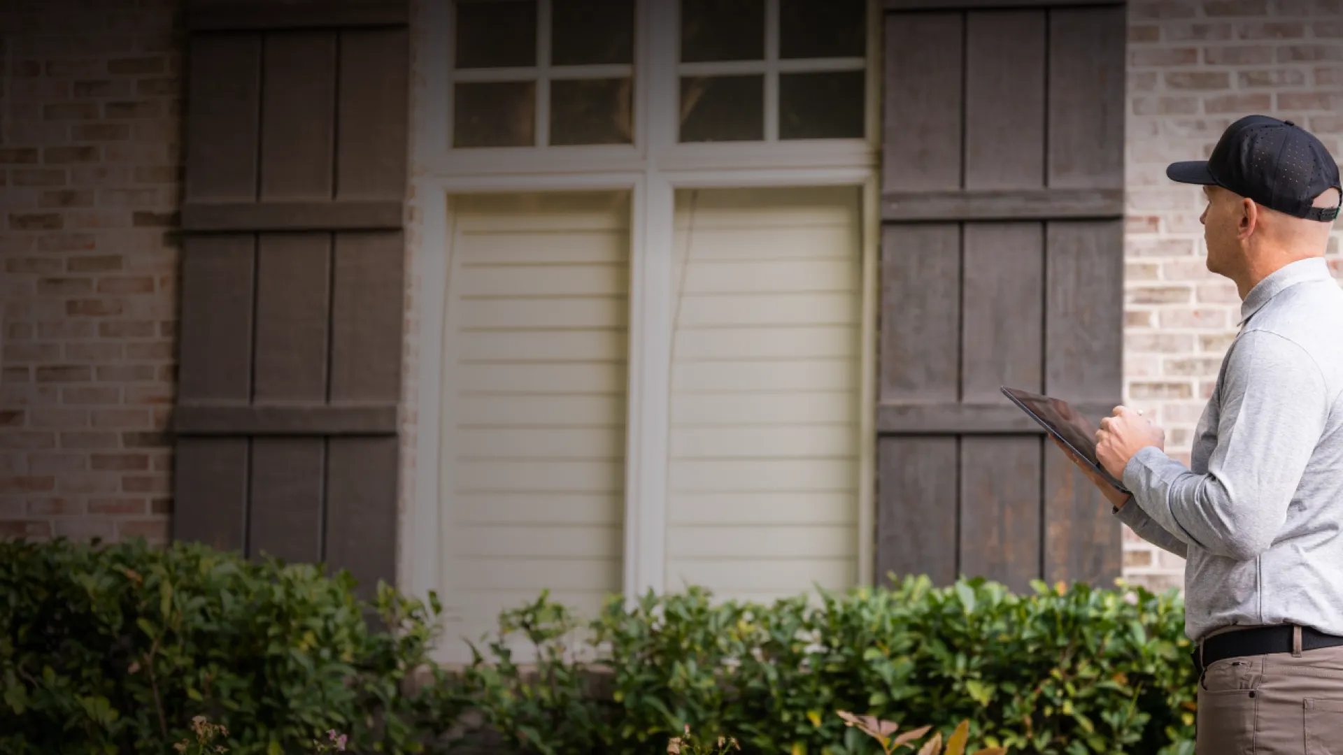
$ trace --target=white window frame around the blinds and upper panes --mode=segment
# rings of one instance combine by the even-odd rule
[[[880,0],[868,0],[866,134],[857,140],[771,141],[778,134],[778,82],[767,77],[767,141],[677,142],[678,77],[684,73],[787,71],[778,60],[779,0],[767,0],[767,55],[753,63],[678,60],[678,4],[635,0],[634,145],[450,149],[453,86],[451,0],[423,0],[415,20],[412,113],[414,204],[422,214],[411,238],[412,306],[419,322],[414,496],[402,517],[400,583],[416,595],[442,594],[449,566],[445,523],[439,517],[445,396],[445,302],[453,250],[450,197],[462,193],[536,191],[626,191],[631,196],[630,361],[624,486],[623,592],[627,598],[665,588],[666,481],[670,439],[670,367],[673,312],[673,216],[681,188],[761,188],[849,185],[862,189],[862,317],[858,433],[858,583],[873,583],[877,255],[880,242]],[[547,26],[543,0],[541,36]],[[654,34],[658,30],[659,34]],[[541,51],[548,39],[541,42]],[[539,67],[547,60],[539,59]],[[822,69],[854,70],[854,60]],[[847,67],[846,67],[847,66]],[[806,70],[821,70],[814,62]],[[594,67],[595,69],[595,67]],[[600,71],[608,74],[606,69]],[[526,69],[528,71],[533,69]],[[517,71],[517,70],[516,70]],[[470,71],[462,81],[494,74]],[[565,74],[567,75],[567,74]],[[539,85],[537,109],[547,109]],[[539,116],[539,118],[548,117]],[[545,134],[539,133],[544,144]]]

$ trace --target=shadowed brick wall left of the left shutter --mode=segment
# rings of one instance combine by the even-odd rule
[[[167,536],[179,5],[0,1],[0,536]]]

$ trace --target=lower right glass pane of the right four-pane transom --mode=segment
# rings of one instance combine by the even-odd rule
[[[862,138],[862,71],[779,77],[779,138]]]

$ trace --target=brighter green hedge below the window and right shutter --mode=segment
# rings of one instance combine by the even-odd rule
[[[537,648],[535,677],[501,643],[512,635]],[[1187,755],[1187,657],[1175,594],[905,578],[771,606],[650,595],[590,622],[543,595],[502,617],[469,680],[514,746],[548,754],[661,752],[684,724],[747,752],[876,752],[835,716],[853,711],[944,736],[968,719],[971,750]],[[608,696],[583,695],[592,672]]]

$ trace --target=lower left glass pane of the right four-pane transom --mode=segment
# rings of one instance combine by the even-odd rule
[[[764,138],[764,77],[681,79],[681,141]]]

